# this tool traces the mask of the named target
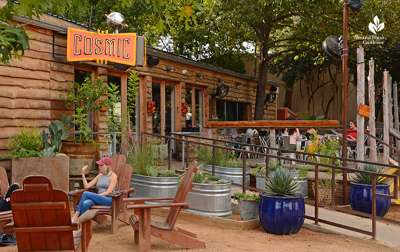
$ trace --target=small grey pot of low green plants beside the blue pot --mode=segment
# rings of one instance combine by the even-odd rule
[[[245,192],[233,193],[233,199],[239,204],[240,217],[242,220],[250,220],[258,218],[259,193],[253,192],[246,194]]]

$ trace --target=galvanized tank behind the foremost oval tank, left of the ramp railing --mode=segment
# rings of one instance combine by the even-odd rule
[[[203,170],[212,173],[212,165],[203,164]],[[243,168],[228,168],[215,166],[215,175],[221,179],[233,180],[233,183],[242,184],[243,180]],[[250,167],[246,168],[246,185],[250,185]],[[241,188],[239,186],[232,187]]]

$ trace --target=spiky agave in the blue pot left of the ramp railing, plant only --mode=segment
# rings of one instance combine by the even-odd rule
[[[298,196],[300,193],[295,192],[300,187],[297,180],[298,177],[294,179],[293,174],[290,174],[288,169],[277,168],[275,170],[275,175],[269,177],[266,181],[264,192],[270,196]]]

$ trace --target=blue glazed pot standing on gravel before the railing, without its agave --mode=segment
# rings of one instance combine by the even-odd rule
[[[304,196],[280,197],[259,193],[258,216],[266,232],[293,234],[300,230],[305,217]]]

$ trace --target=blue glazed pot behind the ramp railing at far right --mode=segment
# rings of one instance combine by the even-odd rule
[[[372,214],[372,184],[351,182],[350,205],[353,210]],[[376,193],[390,195],[390,184],[376,185]],[[390,198],[376,197],[376,216],[383,217],[390,207]]]

